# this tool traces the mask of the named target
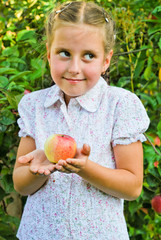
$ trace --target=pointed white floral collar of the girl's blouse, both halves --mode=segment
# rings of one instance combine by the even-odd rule
[[[85,110],[95,112],[100,105],[102,96],[107,87],[106,81],[100,77],[99,81],[92,89],[82,96],[73,98],[73,101],[77,101]],[[54,85],[47,94],[44,107],[50,107],[58,100],[64,102],[63,92],[57,85]]]

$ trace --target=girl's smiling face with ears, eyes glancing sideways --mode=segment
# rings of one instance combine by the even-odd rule
[[[55,30],[51,48],[47,47],[48,61],[67,104],[90,90],[108,68],[113,51],[105,56],[102,35],[102,30],[86,24]]]

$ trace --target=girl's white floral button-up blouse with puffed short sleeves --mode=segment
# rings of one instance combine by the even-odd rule
[[[19,104],[19,136],[44,149],[54,133],[91,146],[90,160],[115,168],[113,146],[144,141],[149,118],[138,97],[107,85],[103,78],[85,95],[70,100],[54,85],[25,95]],[[75,173],[54,172],[28,196],[17,233],[20,240],[128,240],[123,199],[112,197]]]

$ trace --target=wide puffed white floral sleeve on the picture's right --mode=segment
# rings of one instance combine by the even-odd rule
[[[140,99],[127,92],[119,99],[114,114],[112,146],[127,145],[140,140],[145,141],[143,133],[148,129],[150,120]]]

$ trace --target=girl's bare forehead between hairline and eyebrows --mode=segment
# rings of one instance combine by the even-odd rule
[[[52,46],[93,47],[101,50],[104,46],[102,28],[87,24],[62,25],[55,29]]]

